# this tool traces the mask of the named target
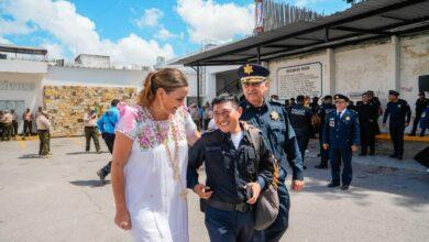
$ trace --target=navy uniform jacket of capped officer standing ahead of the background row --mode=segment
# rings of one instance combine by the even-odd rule
[[[341,114],[337,111],[327,116],[323,127],[323,143],[331,148],[346,148],[360,143],[358,113],[344,109]]]

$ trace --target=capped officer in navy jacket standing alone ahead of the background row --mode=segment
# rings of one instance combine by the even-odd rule
[[[352,182],[352,155],[360,143],[358,113],[346,109],[349,98],[334,96],[337,110],[328,113],[323,125],[323,148],[330,152],[332,180],[328,187],[349,189]],[[340,166],[342,164],[342,173]]]

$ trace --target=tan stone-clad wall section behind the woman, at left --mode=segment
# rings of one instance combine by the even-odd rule
[[[52,122],[52,136],[84,134],[84,113],[90,107],[98,116],[110,107],[114,98],[133,103],[138,90],[127,87],[44,86],[44,107]]]

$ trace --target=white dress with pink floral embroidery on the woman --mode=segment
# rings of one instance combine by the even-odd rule
[[[134,141],[124,167],[132,235],[136,241],[189,241],[186,138],[197,130],[194,121],[183,108],[170,120],[155,121],[140,106],[118,107],[121,118],[117,131]]]

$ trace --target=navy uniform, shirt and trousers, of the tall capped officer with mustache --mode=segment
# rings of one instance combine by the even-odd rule
[[[287,163],[293,169],[293,179],[302,180],[302,160],[294,129],[287,118],[284,106],[275,101],[264,101],[262,107],[253,107],[244,100],[240,120],[260,129],[268,147],[280,165],[279,170],[279,211],[277,219],[264,231],[255,231],[254,241],[278,241],[288,228],[290,200],[285,186]]]

